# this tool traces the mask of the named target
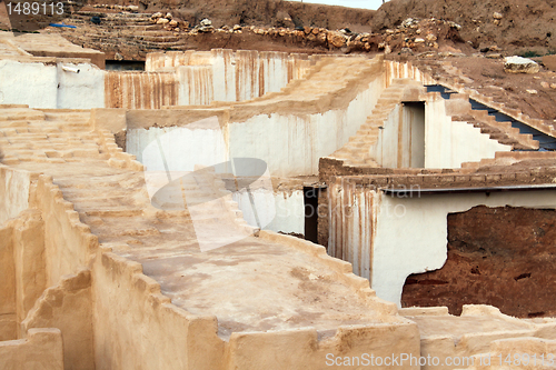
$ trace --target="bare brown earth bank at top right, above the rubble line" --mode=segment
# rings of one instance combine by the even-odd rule
[[[391,0],[371,20],[380,32],[407,18],[439,18],[461,26],[475,48],[496,43],[517,52],[556,51],[556,0]]]

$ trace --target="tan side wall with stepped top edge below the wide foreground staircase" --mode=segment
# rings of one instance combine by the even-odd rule
[[[97,369],[224,369],[216,318],[171,304],[140,263],[99,250],[92,297]]]

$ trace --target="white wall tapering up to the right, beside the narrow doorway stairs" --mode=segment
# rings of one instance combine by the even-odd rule
[[[380,78],[370,82],[345,109],[307,116],[258,114],[230,122],[230,156],[261,159],[271,176],[317,174],[319,159],[341,148],[370,114],[381,82]]]

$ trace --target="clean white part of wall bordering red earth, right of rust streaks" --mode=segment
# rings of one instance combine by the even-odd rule
[[[556,191],[495,192],[488,197],[485,193],[417,199],[379,197],[373,289],[378,297],[398,306],[409,274],[440,269],[446,262],[448,213],[464,212],[476,206],[556,209]]]

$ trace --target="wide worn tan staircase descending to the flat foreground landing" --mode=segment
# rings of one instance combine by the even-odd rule
[[[102,252],[139,262],[177,307],[216,316],[220,337],[269,328],[326,331],[345,322],[380,323],[381,314],[390,314],[384,312],[395,314],[367,280],[324,248],[266,231],[254,237],[257,230],[240,219],[210,168],[176,179],[177,192],[151,202],[142,164],[116,147],[112,134],[89,126],[88,114],[0,106],[2,163],[43,173],[38,181],[53,182],[51,192],[61,194],[57,202],[77,212],[77,227],[98,238]],[[182,194],[193,200],[187,209]],[[56,219],[51,212],[48,217]],[[298,288],[295,271],[318,276],[304,284],[325,284],[327,294],[320,293],[325,288]],[[280,288],[272,289],[277,280]],[[304,312],[296,313],[300,307]]]

